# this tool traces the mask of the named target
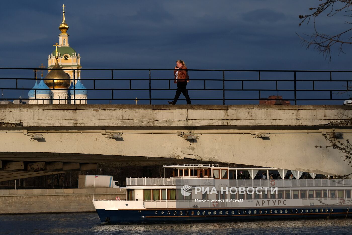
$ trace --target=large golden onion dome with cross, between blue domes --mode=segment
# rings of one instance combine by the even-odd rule
[[[58,56],[55,56],[56,62],[52,70],[48,72],[48,74],[45,76],[45,79],[50,79],[50,80],[45,80],[45,84],[48,85],[50,89],[54,88],[55,89],[68,89],[70,86],[70,77],[65,73],[63,69],[61,69],[59,63],[57,62]],[[54,81],[54,83],[53,83]]]

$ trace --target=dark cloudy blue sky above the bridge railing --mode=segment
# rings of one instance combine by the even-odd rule
[[[298,15],[318,0],[2,1],[1,67],[38,67],[58,42],[62,4],[69,43],[83,68],[349,70],[351,49],[331,63],[302,47]],[[317,19],[318,29],[339,32],[337,16]],[[352,46],[351,46],[352,47]],[[84,74],[82,73],[82,76]]]

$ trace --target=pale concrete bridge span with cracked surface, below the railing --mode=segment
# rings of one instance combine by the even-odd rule
[[[70,170],[211,161],[343,175],[333,130],[352,106],[1,105],[0,181]]]

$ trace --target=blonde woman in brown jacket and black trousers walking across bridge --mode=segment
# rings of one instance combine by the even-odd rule
[[[178,60],[176,61],[176,66],[174,70],[175,80],[174,83],[177,83],[177,90],[175,94],[175,98],[173,101],[168,101],[169,104],[176,104],[178,97],[180,97],[181,93],[186,97],[187,104],[191,104],[191,100],[188,96],[188,91],[186,89],[187,83],[189,82],[188,72],[186,70],[180,69],[187,69],[186,64],[184,61]]]

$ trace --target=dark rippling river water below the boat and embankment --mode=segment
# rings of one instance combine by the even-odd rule
[[[352,219],[101,224],[96,213],[0,215],[0,234],[352,234]]]

